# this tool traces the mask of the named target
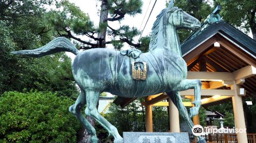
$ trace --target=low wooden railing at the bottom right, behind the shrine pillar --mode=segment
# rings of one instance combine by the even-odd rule
[[[205,138],[209,142],[237,143],[237,134],[208,134]],[[256,143],[256,134],[247,134],[248,143]]]

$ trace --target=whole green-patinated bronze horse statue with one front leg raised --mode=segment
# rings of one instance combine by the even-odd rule
[[[61,51],[75,54],[72,71],[81,92],[75,104],[69,107],[69,111],[92,135],[91,142],[98,142],[95,129],[81,113],[81,108],[87,104],[85,114],[94,117],[110,135],[114,136],[114,142],[117,143],[122,142],[122,137],[116,127],[105,120],[96,108],[99,95],[103,91],[125,98],[146,97],[166,92],[190,129],[194,126],[190,117],[198,114],[201,105],[201,81],[186,79],[187,65],[181,55],[177,34],[177,29],[180,28],[197,30],[200,28],[200,21],[182,9],[174,7],[171,1],[168,8],[163,9],[154,22],[148,53],[141,53],[135,49],[119,52],[102,48],[79,52],[64,37],[55,38],[39,49],[12,53],[31,57]],[[134,78],[134,75],[137,77]],[[195,107],[191,107],[188,113],[182,104],[179,91],[191,88],[195,90]],[[206,142],[200,136],[197,141]]]

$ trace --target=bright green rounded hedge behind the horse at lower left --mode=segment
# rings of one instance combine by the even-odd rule
[[[77,142],[74,101],[51,92],[5,92],[0,97],[0,142]]]

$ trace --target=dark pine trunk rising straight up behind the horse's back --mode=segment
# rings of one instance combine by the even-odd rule
[[[100,6],[100,17],[99,17],[99,27],[100,31],[98,33],[98,38],[99,40],[97,41],[98,47],[105,47],[105,41],[106,41],[106,29],[107,29],[107,24],[109,15],[109,10],[108,10],[108,0],[101,0],[101,6]],[[102,25],[104,25],[104,28],[102,28]]]

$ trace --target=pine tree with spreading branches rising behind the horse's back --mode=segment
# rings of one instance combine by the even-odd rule
[[[141,47],[140,42],[134,41],[134,37],[140,34],[136,28],[123,25],[114,29],[108,21],[121,21],[125,15],[135,16],[141,13],[142,0],[101,0],[100,2],[98,27],[94,27],[89,15],[83,13],[79,7],[67,0],[58,3],[57,8],[62,10],[53,12],[51,18],[58,35],[76,40],[78,47],[84,50],[106,47],[107,44],[120,49],[124,43],[135,48]],[[78,35],[84,35],[88,40],[82,40]],[[110,41],[106,41],[106,35],[111,36]],[[148,42],[145,38],[141,38],[141,41]]]

